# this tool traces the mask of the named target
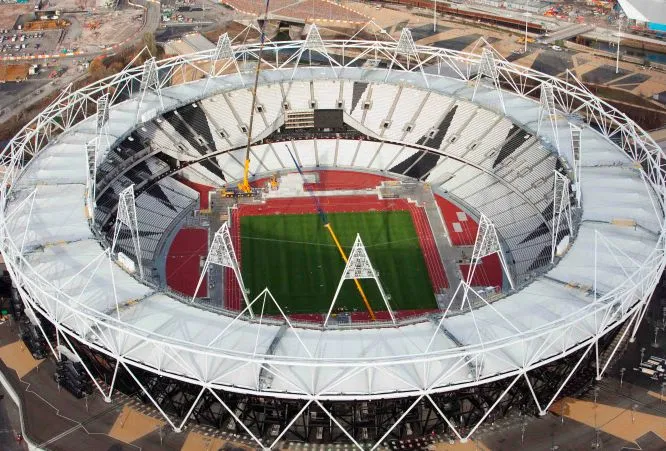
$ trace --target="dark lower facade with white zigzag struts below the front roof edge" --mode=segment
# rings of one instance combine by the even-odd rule
[[[606,350],[604,357],[608,358],[612,349],[610,345],[622,332],[613,331],[602,339],[600,349]],[[47,334],[55,339],[56,332],[52,326],[47,328]],[[159,400],[161,409],[172,418],[189,417],[196,424],[216,427],[228,434],[242,434],[247,438],[251,438],[251,433],[266,444],[266,448],[280,440],[344,443],[349,441],[345,430],[358,437],[359,445],[365,448],[371,447],[380,437],[385,443],[433,433],[464,441],[484,418],[494,421],[509,411],[519,411],[523,415],[543,413],[533,396],[552,398],[574,367],[578,366],[578,370],[560,395],[579,396],[590,387],[590,381],[597,374],[593,353],[579,350],[518,380],[500,380],[419,398],[322,401],[319,405],[306,400],[281,400],[221,390],[202,392],[195,385],[160,377],[150,371],[133,369],[133,374],[130,374],[127,369],[109,360],[108,356],[79,342],[73,342],[73,345],[75,354],[80,356],[97,380],[103,381],[103,387],[108,389],[113,384],[115,390],[136,396],[145,403],[150,403],[149,396]],[[512,387],[501,397],[509,386]],[[487,414],[488,408],[498,399],[501,400],[495,410]],[[331,421],[329,413],[338,419],[339,425]],[[398,421],[400,418],[402,420]],[[290,423],[286,429],[285,426]]]

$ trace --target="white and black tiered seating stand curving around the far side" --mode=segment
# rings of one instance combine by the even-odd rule
[[[505,117],[433,91],[385,84],[380,88],[376,83],[350,80],[264,84],[257,99],[256,137],[274,131],[285,110],[343,107],[352,126],[360,124],[377,136],[405,143],[292,140],[290,148],[301,167],[369,169],[424,180],[435,192],[459,199],[465,209],[490,218],[507,245],[517,275],[548,263],[550,231],[545,221],[550,220],[552,173],[561,168],[550,150]],[[181,171],[194,187],[222,186],[242,178],[250,105],[251,92],[239,89],[184,105],[143,124],[100,168],[99,177],[107,183],[98,191],[98,206],[106,214],[102,220],[110,218],[124,187],[135,183],[140,188],[143,180],[169,170],[150,149],[180,161],[196,161]],[[410,143],[443,154],[419,150]],[[233,148],[238,150],[229,151]],[[212,152],[216,157],[203,158]],[[137,155],[145,159],[134,162]],[[122,175],[116,174],[119,170],[114,165],[125,168]],[[251,174],[294,169],[284,144],[253,146]],[[204,197],[201,208],[207,203]],[[137,204],[142,204],[144,200],[139,199]],[[452,244],[472,245],[475,224],[456,220],[458,212],[453,209],[441,204],[440,209]],[[157,223],[176,216],[166,215]],[[156,232],[149,227],[143,231],[147,256],[156,244],[148,235]]]

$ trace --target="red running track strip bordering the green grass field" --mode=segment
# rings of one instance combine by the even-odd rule
[[[425,211],[405,199],[379,199],[377,196],[321,196],[319,202],[323,209],[330,213],[339,212],[367,212],[367,211],[409,211],[412,216],[414,228],[419,239],[421,251],[424,256],[428,275],[434,292],[448,287],[448,280],[444,272],[444,266],[439,259],[439,253],[428,224]],[[240,248],[240,220],[241,216],[261,216],[278,214],[316,214],[314,202],[309,197],[270,199],[263,204],[239,205],[232,213],[231,226],[234,248],[237,258],[241,259]],[[226,280],[235,280],[233,272],[226,272]],[[229,291],[226,291],[226,290]],[[225,287],[225,305],[229,309],[241,308],[242,293],[238,283],[227,284]],[[388,312],[385,312],[388,315]],[[379,315],[378,315],[379,316]],[[306,317],[317,318],[320,315],[306,315]]]

